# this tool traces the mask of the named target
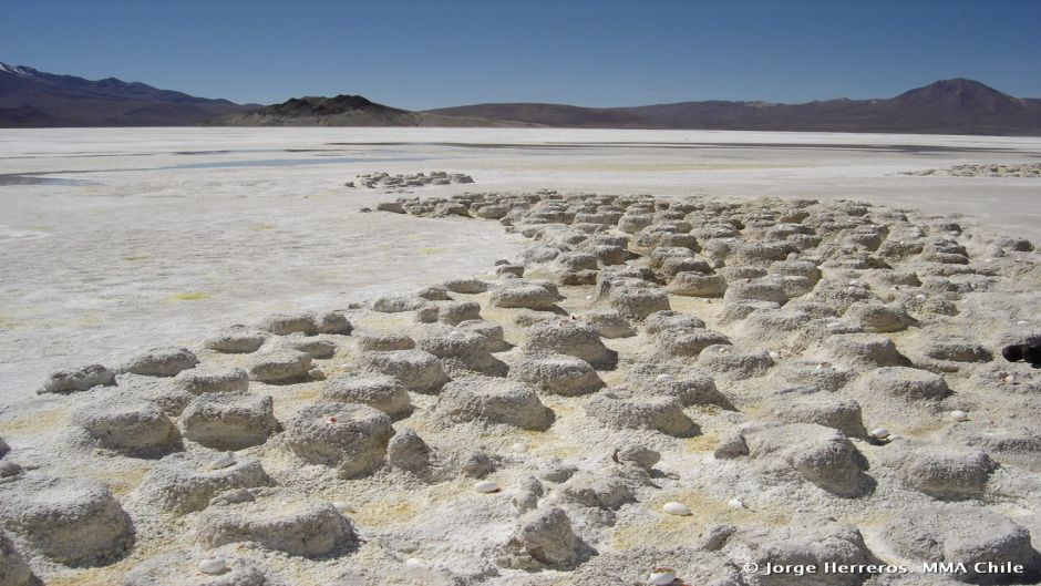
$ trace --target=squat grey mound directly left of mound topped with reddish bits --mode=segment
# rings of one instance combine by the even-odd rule
[[[181,414],[182,434],[216,450],[259,445],[280,429],[270,395],[205,393]]]

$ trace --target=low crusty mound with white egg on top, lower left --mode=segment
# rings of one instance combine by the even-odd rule
[[[215,466],[220,458],[219,453],[171,454],[145,474],[133,496],[164,512],[184,515],[206,508],[210,498],[223,492],[275,483],[255,458],[236,455],[231,464]]]

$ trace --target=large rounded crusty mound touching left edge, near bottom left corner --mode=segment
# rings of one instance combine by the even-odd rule
[[[111,563],[134,543],[123,507],[104,484],[90,479],[27,476],[0,483],[0,523],[31,551],[71,566]]]

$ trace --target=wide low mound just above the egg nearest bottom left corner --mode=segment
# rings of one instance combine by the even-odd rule
[[[288,489],[239,489],[215,497],[199,516],[196,538],[210,549],[247,543],[305,557],[358,545],[351,521],[331,503]]]

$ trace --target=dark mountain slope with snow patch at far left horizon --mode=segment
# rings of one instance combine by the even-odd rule
[[[256,106],[0,63],[0,127],[178,126]]]

